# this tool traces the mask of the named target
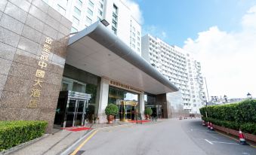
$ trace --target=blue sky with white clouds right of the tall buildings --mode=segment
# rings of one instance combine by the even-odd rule
[[[142,26],[201,62],[209,96],[256,97],[256,0],[125,0]]]

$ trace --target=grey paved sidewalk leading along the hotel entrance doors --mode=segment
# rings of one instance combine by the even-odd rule
[[[133,124],[129,122],[120,122],[116,121],[113,124],[106,124],[106,123],[87,123],[85,126],[82,126],[82,128],[91,128],[91,129],[99,129],[103,127],[109,127],[109,126],[119,126],[123,124]],[[79,128],[79,127],[76,127]],[[81,128],[81,127],[80,127]],[[15,150],[8,154],[14,154],[14,155],[55,155],[60,154],[64,150],[66,150],[67,147],[74,144],[76,141],[79,140],[79,138],[82,138],[84,135],[86,135],[88,132],[91,131],[91,129],[85,129],[85,130],[79,130],[77,132],[75,131],[69,131],[67,129],[72,128],[66,128],[63,130],[60,129],[54,129],[54,133],[46,136],[45,138],[40,139],[39,141],[35,141],[32,144],[28,144],[25,147],[21,147],[18,150]]]

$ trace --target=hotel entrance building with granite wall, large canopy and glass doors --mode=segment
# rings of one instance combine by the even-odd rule
[[[91,117],[106,123],[109,103],[119,106],[116,120],[143,117],[145,105],[162,118],[180,111],[167,94],[177,87],[111,25],[97,21],[70,37],[71,27],[41,0],[0,2],[0,120],[47,120],[51,132]]]

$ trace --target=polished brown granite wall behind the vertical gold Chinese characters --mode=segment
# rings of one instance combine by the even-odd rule
[[[51,132],[71,24],[41,0],[0,1],[0,120],[48,120]],[[53,42],[42,67],[48,37]],[[43,77],[35,76],[38,70]],[[29,108],[32,99],[36,106]]]

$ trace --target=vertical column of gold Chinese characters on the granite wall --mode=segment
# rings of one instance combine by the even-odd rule
[[[39,69],[35,71],[35,81],[30,92],[30,101],[28,104],[28,108],[37,108],[39,104],[39,98],[42,91],[42,83],[44,83],[45,78],[45,70],[48,65],[49,56],[51,53],[51,43],[52,39],[47,37],[45,38],[45,44],[43,45],[41,56],[39,58]]]

